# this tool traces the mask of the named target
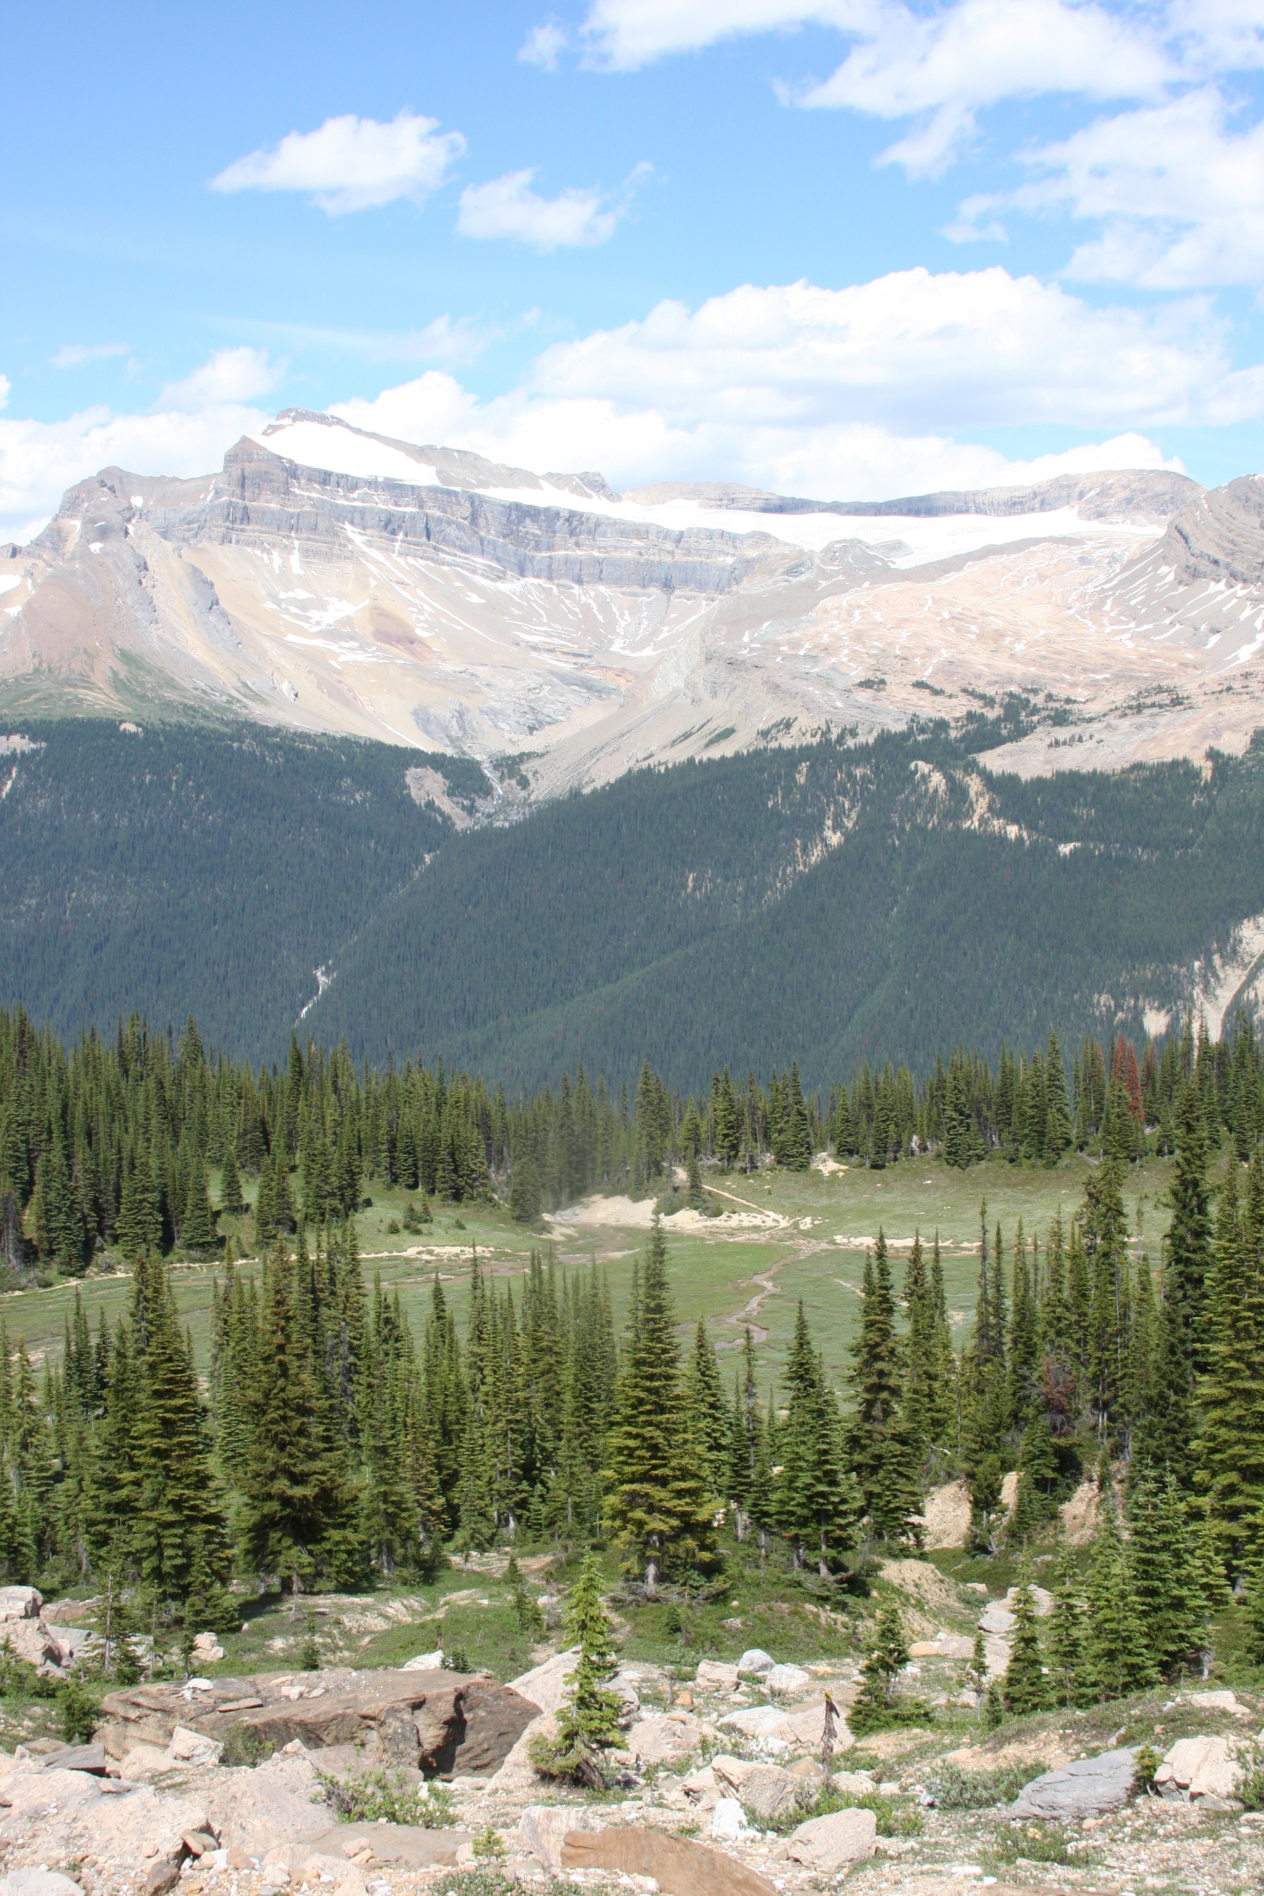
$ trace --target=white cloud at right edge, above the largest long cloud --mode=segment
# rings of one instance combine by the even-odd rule
[[[1184,290],[1264,284],[1264,123],[1236,131],[1215,87],[1097,119],[1020,154],[1031,182],[972,197],[957,237],[982,235],[997,210],[1069,212],[1103,226],[1069,275]]]

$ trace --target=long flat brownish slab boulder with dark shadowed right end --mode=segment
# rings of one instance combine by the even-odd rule
[[[197,1687],[197,1689],[195,1689]],[[362,1744],[370,1767],[428,1777],[495,1771],[538,1716],[534,1703],[491,1678],[460,1672],[262,1672],[252,1678],[129,1686],[102,1699],[102,1742],[123,1758],[136,1742],[171,1744],[176,1725],[222,1741],[243,1725],[279,1752]]]

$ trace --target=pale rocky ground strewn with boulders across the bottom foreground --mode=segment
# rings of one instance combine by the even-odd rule
[[[19,1640],[44,1638],[38,1625]],[[896,1729],[864,1752],[840,1720],[826,1778],[826,1693],[840,1706],[855,1697],[849,1663],[750,1651],[739,1665],[705,1661],[686,1686],[625,1667],[618,1786],[586,1796],[527,1759],[570,1653],[514,1686],[440,1659],[110,1693],[91,1744],[0,1754],[0,1896],[404,1896],[553,1879],[766,1896],[843,1877],[910,1896],[1139,1896],[1258,1887],[1264,1871],[1264,1813],[1243,1807],[1256,1801],[1260,1714],[1232,1691],[1133,1705],[1114,1733],[1103,1718],[1126,1716],[1118,1705],[993,1735]],[[1128,1744],[1103,1742],[1124,1731]],[[1162,1758],[1147,1796],[1135,1794],[1141,1742]],[[227,1761],[243,1750],[263,1761]],[[415,1792],[421,1822],[337,1822],[339,1790],[375,1771]],[[811,1814],[822,1790],[834,1809]]]

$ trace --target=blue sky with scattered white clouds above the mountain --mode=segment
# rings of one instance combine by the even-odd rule
[[[1264,466],[1264,0],[27,8],[6,64],[6,535],[282,406],[826,497]]]

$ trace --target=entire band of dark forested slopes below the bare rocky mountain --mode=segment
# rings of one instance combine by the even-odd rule
[[[0,760],[0,999],[63,1033],[191,1011],[256,1062],[315,1001],[356,1062],[423,1048],[533,1094],[642,1058],[684,1092],[724,1062],[828,1090],[957,1041],[1141,1041],[1264,906],[1264,749],[1020,781],[984,768],[1002,734],[633,772],[459,834],[404,772],[491,806],[472,760],[32,726]]]

